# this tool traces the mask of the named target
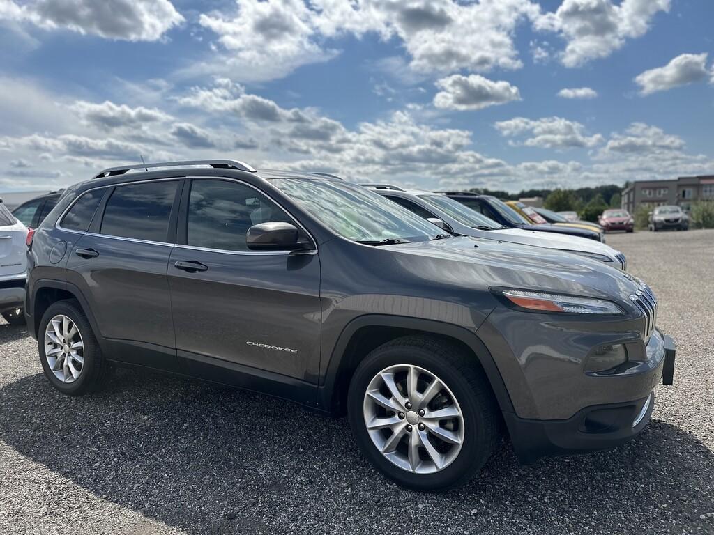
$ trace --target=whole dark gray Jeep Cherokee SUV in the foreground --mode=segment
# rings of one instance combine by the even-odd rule
[[[672,382],[655,297],[618,269],[325,175],[155,166],[69,188],[34,235],[27,320],[61,392],[119,363],[346,411],[381,472],[441,490],[504,430],[523,462],[620,444]]]

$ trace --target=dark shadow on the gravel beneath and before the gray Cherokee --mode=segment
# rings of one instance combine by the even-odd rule
[[[7,384],[0,438],[95,496],[196,534],[379,531],[395,511],[407,533],[707,531],[699,516],[714,511],[713,452],[656,419],[615,451],[528,467],[504,444],[481,477],[446,494],[383,479],[344,418],[138,370],[85,397],[59,394],[41,374]]]

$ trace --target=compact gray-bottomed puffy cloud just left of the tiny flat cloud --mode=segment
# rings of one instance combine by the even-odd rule
[[[506,81],[493,81],[478,74],[454,74],[436,82],[441,89],[434,96],[434,106],[448,110],[480,110],[511,101],[520,101],[521,93]]]

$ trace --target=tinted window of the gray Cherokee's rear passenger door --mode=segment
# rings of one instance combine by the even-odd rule
[[[101,233],[166,242],[178,181],[118,185],[106,202]]]

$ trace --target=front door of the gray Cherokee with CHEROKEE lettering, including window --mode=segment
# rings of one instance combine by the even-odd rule
[[[178,355],[189,368],[201,362],[316,382],[318,255],[248,250],[252,225],[296,224],[253,186],[221,178],[193,178],[186,186],[169,260]]]

